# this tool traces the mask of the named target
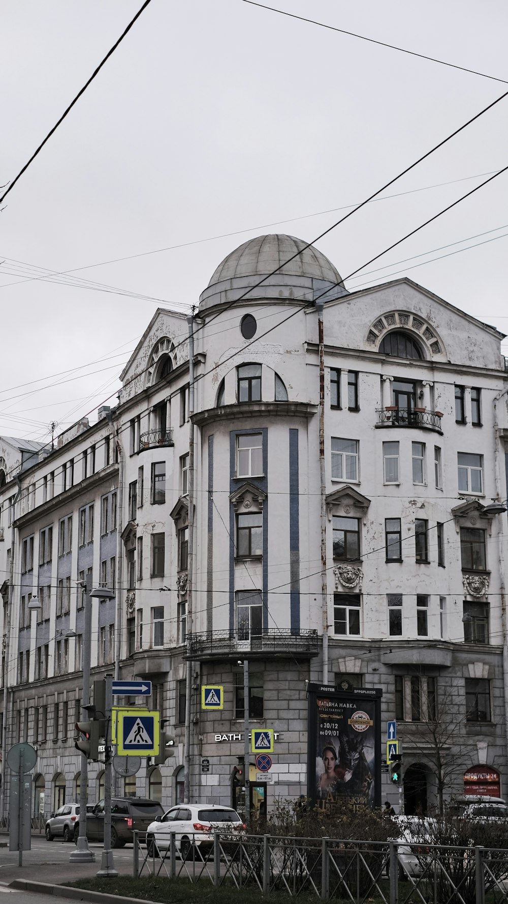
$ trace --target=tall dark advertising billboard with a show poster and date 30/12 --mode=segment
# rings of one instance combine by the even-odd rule
[[[328,813],[381,806],[381,688],[308,684],[308,790]]]

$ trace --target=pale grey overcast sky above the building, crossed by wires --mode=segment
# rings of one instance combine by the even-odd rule
[[[0,0],[1,184],[141,5]],[[508,80],[503,0],[272,5]],[[51,420],[60,432],[97,408],[158,303],[196,305],[220,260],[255,235],[313,240],[341,215],[332,209],[362,201],[507,89],[242,0],[152,0],[5,199],[2,433],[47,439]],[[319,250],[346,277],[507,165],[507,111],[505,99]],[[407,272],[508,332],[507,238],[414,268],[508,233],[507,184],[500,175],[346,287]],[[154,300],[33,278],[42,268]]]

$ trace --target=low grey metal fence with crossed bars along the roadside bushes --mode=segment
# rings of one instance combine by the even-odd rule
[[[506,904],[508,850],[203,833],[134,832],[134,876],[185,878],[350,904]],[[163,848],[162,848],[163,844]],[[486,896],[486,900],[485,900]]]

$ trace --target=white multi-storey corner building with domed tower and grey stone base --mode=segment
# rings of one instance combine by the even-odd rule
[[[152,706],[177,741],[165,765],[143,763],[138,794],[181,799],[188,656],[191,799],[236,803],[245,655],[251,725],[278,735],[277,781],[254,786],[254,805],[306,793],[306,680],[383,688],[407,812],[439,793],[436,749],[445,794],[507,790],[506,516],[485,510],[507,496],[503,334],[406,278],[348,294],[304,246],[283,235],[245,242],[191,320],[191,613],[185,316],[156,312],[118,406],[96,425],[79,422],[52,452],[32,449],[33,464],[0,440],[4,747],[38,748],[37,812],[75,799],[79,785],[77,584],[87,575],[94,587],[115,581],[117,595],[93,603],[94,677],[116,650],[122,677],[152,680]],[[42,611],[30,624],[35,593]],[[224,686],[224,710],[201,710],[206,683]],[[91,800],[101,770],[89,769]]]

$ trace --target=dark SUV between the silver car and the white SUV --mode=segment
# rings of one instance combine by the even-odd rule
[[[133,841],[133,829],[146,832],[164,808],[148,797],[113,797],[111,800],[111,847],[124,847]],[[78,842],[79,817],[74,824],[74,841]],[[87,814],[87,838],[89,842],[104,841],[104,800],[99,800]]]

